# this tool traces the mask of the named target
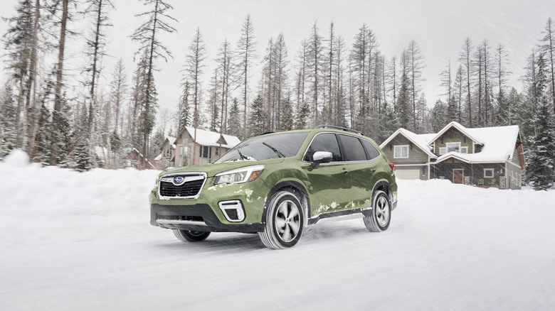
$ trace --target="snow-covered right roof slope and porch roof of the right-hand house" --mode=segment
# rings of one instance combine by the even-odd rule
[[[435,160],[435,163],[447,160],[448,158],[457,158],[466,163],[503,163],[512,159],[514,148],[517,146],[517,139],[519,139],[519,126],[464,129],[470,135],[469,137],[480,137],[483,144],[482,151],[479,153],[458,153],[452,151],[441,155]]]

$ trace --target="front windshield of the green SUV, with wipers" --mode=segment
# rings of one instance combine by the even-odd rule
[[[268,160],[296,155],[308,132],[278,133],[250,138],[231,148],[216,163]]]

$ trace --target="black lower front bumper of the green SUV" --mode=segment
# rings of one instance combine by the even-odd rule
[[[208,204],[150,205],[150,224],[166,229],[212,232],[254,233],[264,231],[264,224],[224,224]]]

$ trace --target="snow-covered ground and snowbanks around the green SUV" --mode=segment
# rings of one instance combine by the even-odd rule
[[[391,227],[186,244],[149,224],[156,171],[0,163],[0,310],[554,310],[555,191],[399,180]]]

